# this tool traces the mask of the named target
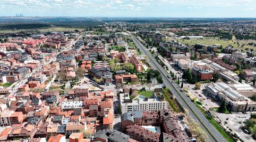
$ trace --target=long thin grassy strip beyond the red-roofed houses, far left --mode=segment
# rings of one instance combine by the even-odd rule
[[[42,33],[46,32],[68,32],[68,31],[74,31],[77,28],[69,28],[69,27],[48,27],[48,28],[41,28],[41,29],[22,29],[22,30],[0,30],[0,33],[3,34],[12,34],[12,33],[19,33],[19,32],[33,32],[33,31],[40,31]],[[77,29],[81,30],[81,29]]]

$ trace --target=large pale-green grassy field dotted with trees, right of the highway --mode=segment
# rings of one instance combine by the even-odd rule
[[[222,45],[223,48],[225,48],[228,45],[234,46],[236,49],[245,50],[248,49],[256,49],[255,46],[248,45],[248,43],[255,43],[254,40],[236,40],[233,36],[232,40],[220,40],[218,37],[203,37],[198,39],[190,39],[190,40],[180,40],[177,39],[178,42],[181,42],[183,44],[189,44],[189,45],[195,45],[196,43],[206,44],[206,45],[213,45],[213,44],[219,44]],[[243,47],[241,47],[244,44]]]

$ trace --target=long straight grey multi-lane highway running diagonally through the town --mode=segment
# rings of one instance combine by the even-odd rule
[[[196,122],[199,122],[200,126],[207,132],[210,141],[219,141],[226,142],[227,140],[210,124],[206,117],[200,112],[200,110],[194,105],[194,103],[186,96],[184,92],[181,92],[180,86],[174,82],[173,80],[166,77],[168,74],[167,71],[159,65],[159,63],[153,58],[151,53],[146,49],[146,47],[137,39],[133,38],[133,42],[139,47],[141,52],[144,55],[148,56],[149,64],[153,69],[159,70],[161,72],[162,79],[164,84],[167,87],[170,87],[172,93],[181,103],[181,106],[187,110],[189,110],[189,116],[191,116]],[[171,84],[172,83],[172,84]],[[174,87],[177,89],[175,90]],[[177,91],[181,94],[178,94]]]

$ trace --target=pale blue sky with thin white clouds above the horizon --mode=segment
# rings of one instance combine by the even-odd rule
[[[0,16],[256,17],[256,0],[0,0]]]

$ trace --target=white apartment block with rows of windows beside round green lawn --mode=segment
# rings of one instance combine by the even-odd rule
[[[138,100],[131,100],[129,93],[121,93],[120,94],[120,104],[122,114],[127,111],[135,111],[135,110],[142,110],[142,111],[154,111],[154,110],[161,110],[167,108],[166,101],[159,101],[158,98],[154,99],[138,99]]]

